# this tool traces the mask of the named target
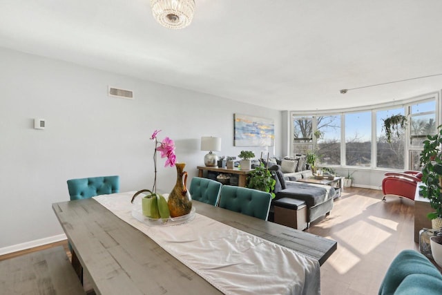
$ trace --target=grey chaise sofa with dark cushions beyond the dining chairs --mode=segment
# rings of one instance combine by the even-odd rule
[[[274,189],[276,200],[282,198],[293,198],[302,200],[307,207],[306,222],[307,228],[310,222],[318,219],[320,216],[328,215],[333,209],[333,199],[335,190],[333,187],[324,184],[309,184],[295,181],[287,181],[285,174],[282,173],[280,165],[276,164],[269,167],[273,177],[276,180]]]

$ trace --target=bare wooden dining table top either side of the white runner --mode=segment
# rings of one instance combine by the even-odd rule
[[[320,265],[337,247],[334,240],[203,202],[193,200],[193,207],[203,216],[298,251]],[[57,202],[52,209],[73,248],[73,263],[88,273],[96,294],[222,294],[93,198]]]

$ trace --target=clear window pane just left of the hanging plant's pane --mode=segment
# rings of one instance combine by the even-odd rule
[[[370,166],[372,162],[371,112],[345,115],[345,162],[349,166]]]

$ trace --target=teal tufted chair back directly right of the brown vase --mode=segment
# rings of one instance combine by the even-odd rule
[[[222,184],[218,181],[194,177],[189,192],[192,200],[216,206],[220,200],[221,187]]]

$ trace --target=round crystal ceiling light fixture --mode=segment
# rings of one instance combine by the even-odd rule
[[[170,29],[186,28],[191,24],[194,0],[151,0],[153,17],[162,26]]]

